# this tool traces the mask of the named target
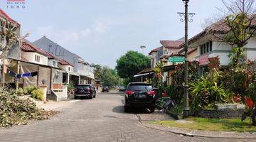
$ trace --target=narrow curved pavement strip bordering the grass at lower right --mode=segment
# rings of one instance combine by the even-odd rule
[[[145,121],[143,121],[140,125],[149,129],[169,131],[171,133],[177,133],[183,136],[199,136],[199,137],[208,137],[208,138],[256,138],[256,132],[239,133],[239,132],[228,132],[228,131],[199,131],[199,130],[166,127],[166,126],[154,125],[154,124],[146,124]]]

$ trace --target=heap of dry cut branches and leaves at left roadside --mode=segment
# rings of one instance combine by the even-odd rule
[[[0,88],[0,127],[26,124],[29,119],[48,119],[56,113],[38,109],[31,99],[21,99],[14,90]]]

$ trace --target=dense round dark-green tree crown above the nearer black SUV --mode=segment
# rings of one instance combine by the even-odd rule
[[[128,51],[117,60],[117,74],[126,80],[130,80],[138,72],[150,67],[150,59],[136,51]]]

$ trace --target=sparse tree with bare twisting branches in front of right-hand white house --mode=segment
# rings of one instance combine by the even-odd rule
[[[230,66],[239,67],[245,62],[245,49],[247,41],[256,35],[256,10],[255,0],[222,0],[228,16],[224,23],[228,30],[216,32],[211,27],[210,33],[230,45],[235,46],[230,53]],[[223,34],[224,33],[224,34]]]

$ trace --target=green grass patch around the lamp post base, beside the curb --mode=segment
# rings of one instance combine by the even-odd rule
[[[238,131],[252,132],[256,131],[256,126],[250,125],[250,119],[241,121],[240,119],[206,119],[191,117],[184,119],[192,121],[191,124],[182,124],[174,120],[169,121],[149,121],[149,124],[158,124],[163,126],[177,127],[181,129],[193,129],[203,131]]]

